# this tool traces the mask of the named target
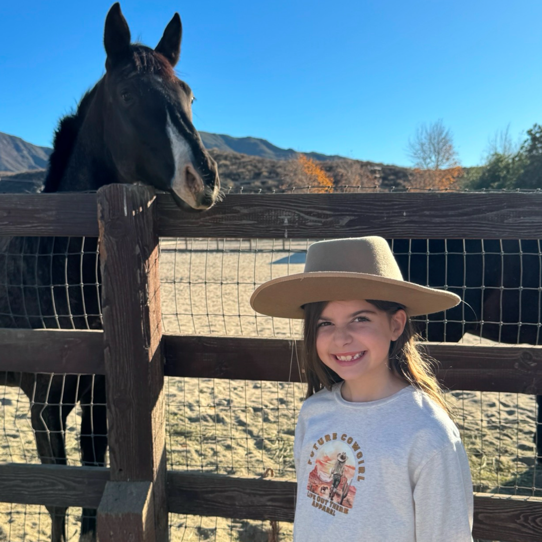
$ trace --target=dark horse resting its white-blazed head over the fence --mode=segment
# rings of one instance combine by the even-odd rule
[[[194,212],[220,201],[215,161],[192,124],[190,87],[175,75],[182,24],[176,13],[152,49],[131,43],[119,3],[104,29],[105,75],[56,130],[42,192],[95,191],[109,183],[152,185]],[[95,238],[0,240],[0,327],[102,327]],[[3,279],[0,279],[3,281]],[[66,464],[63,430],[81,405],[82,464],[105,466],[105,377],[0,373],[20,386],[42,463]],[[66,540],[66,508],[48,507],[51,542]],[[96,540],[96,511],[83,509],[80,542]]]

